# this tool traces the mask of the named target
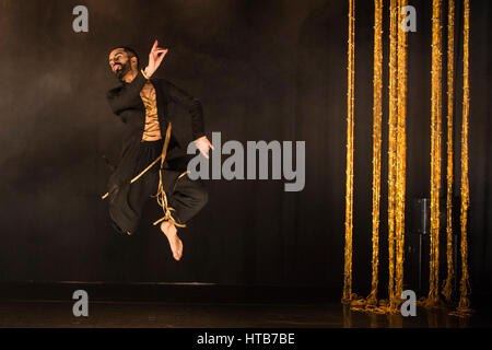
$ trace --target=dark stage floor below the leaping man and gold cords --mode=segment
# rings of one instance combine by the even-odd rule
[[[0,327],[103,328],[468,328],[492,327],[480,314],[458,318],[418,308],[415,317],[351,312],[324,304],[196,304],[91,302],[89,317],[74,317],[71,302],[0,301]]]

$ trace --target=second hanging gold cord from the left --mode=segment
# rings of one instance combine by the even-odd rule
[[[383,0],[374,0],[374,79],[373,79],[373,260],[371,294],[367,305],[377,305],[379,253],[380,143],[383,118]]]

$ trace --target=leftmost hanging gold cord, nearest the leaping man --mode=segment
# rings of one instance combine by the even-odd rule
[[[349,50],[347,92],[347,188],[345,188],[345,250],[342,303],[352,299],[352,229],[353,229],[353,107],[354,107],[354,38],[355,0],[349,0]]]

